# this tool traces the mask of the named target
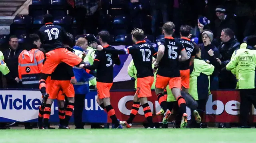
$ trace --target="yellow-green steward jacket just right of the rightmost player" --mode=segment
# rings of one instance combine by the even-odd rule
[[[188,93],[195,99],[206,99],[210,94],[210,75],[214,66],[200,58],[194,59],[194,70],[190,74]]]

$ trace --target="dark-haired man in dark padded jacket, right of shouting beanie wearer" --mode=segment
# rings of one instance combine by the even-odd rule
[[[218,47],[220,51],[220,58],[217,61],[220,64],[220,69],[226,67],[229,63],[232,54],[236,49],[239,49],[240,43],[237,41],[232,29],[226,28],[221,31],[220,37],[222,43]],[[219,88],[221,89],[235,89],[236,77],[230,71],[220,71]]]

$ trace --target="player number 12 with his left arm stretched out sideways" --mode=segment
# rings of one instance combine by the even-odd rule
[[[98,46],[98,50],[103,50],[106,53],[111,54],[131,54],[134,65],[137,69],[137,91],[134,95],[131,114],[127,121],[120,121],[120,124],[126,125],[127,128],[130,128],[141,104],[144,110],[144,115],[149,123],[148,128],[155,128],[147,98],[152,96],[151,86],[154,82],[152,57],[153,55],[156,55],[156,52],[154,51],[154,47],[146,43],[144,40],[144,31],[142,29],[135,28],[132,30],[131,34],[132,41],[134,41],[135,44],[127,47],[127,49],[117,50]]]

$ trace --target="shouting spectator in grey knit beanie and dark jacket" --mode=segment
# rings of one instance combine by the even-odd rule
[[[220,56],[220,51],[215,47],[214,44],[212,44],[213,37],[214,35],[211,31],[204,31],[202,33],[202,40],[204,43],[198,45],[201,49],[200,58],[206,63],[214,65],[214,67],[219,67],[217,58]],[[217,90],[218,82],[218,69],[215,68],[214,72],[210,76],[210,89]]]

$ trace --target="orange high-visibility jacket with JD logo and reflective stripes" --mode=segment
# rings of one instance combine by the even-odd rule
[[[39,88],[40,71],[44,53],[38,49],[23,50],[19,55],[19,78],[25,88]]]

